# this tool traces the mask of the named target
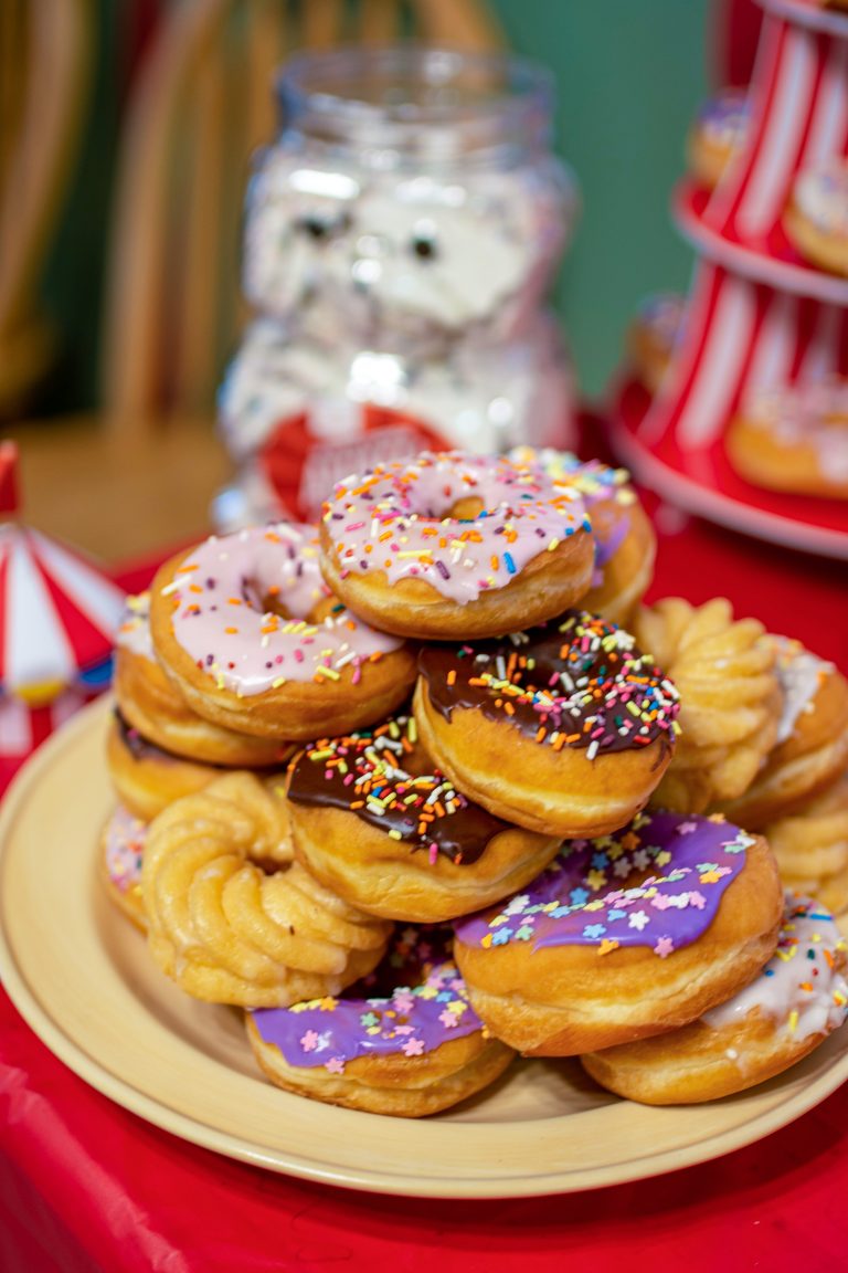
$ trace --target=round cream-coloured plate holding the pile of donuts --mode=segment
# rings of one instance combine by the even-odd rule
[[[334,1109],[258,1073],[240,1013],[189,999],[97,880],[112,808],[107,701],[37,754],[0,816],[0,971],[47,1046],[93,1087],[186,1141],[272,1171],[376,1193],[497,1198],[591,1189],[728,1153],[848,1078],[848,1031],[781,1078],[711,1105],[648,1109],[576,1062],[517,1062],[426,1120]]]

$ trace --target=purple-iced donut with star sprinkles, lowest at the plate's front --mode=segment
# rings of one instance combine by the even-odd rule
[[[472,1096],[514,1057],[468,1003],[441,929],[399,929],[376,971],[341,998],[259,1008],[247,1029],[278,1087],[407,1118]]]

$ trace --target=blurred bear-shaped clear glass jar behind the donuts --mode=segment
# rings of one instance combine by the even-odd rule
[[[573,444],[545,294],[577,207],[545,71],[406,46],[294,59],[250,178],[257,318],[220,393],[240,481],[221,528],[313,518],[350,472],[423,448]]]

